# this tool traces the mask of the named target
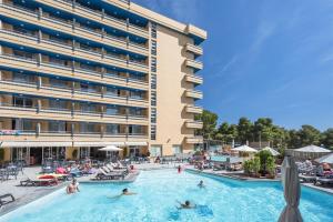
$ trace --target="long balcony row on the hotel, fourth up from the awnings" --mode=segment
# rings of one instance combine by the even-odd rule
[[[39,72],[50,75],[59,75],[63,78],[73,78],[77,80],[87,80],[94,83],[111,84],[117,87],[127,87],[131,89],[147,90],[148,82],[141,79],[125,78],[115,74],[93,72],[92,70],[82,70],[79,68],[63,67],[50,62],[41,62],[34,59],[18,57],[13,54],[0,54],[0,65],[30,72]]]

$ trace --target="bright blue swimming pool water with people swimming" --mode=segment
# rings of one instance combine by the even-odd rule
[[[199,189],[203,180],[205,189]],[[110,199],[123,188],[137,195]],[[176,210],[189,199],[199,208]],[[305,222],[332,221],[333,195],[302,188],[301,212]],[[57,191],[22,206],[0,222],[164,222],[164,221],[276,221],[284,206],[278,182],[243,182],[201,176],[175,170],[143,171],[134,183],[81,184],[81,192]]]

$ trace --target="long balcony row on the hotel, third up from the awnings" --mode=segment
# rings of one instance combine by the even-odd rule
[[[98,92],[78,91],[70,88],[57,88],[41,85],[36,83],[14,82],[14,81],[0,81],[0,91],[17,93],[20,92],[27,95],[39,95],[54,98],[54,99],[71,99],[73,101],[88,101],[102,104],[118,104],[125,107],[147,108],[148,100],[139,100],[130,97],[120,97],[115,94],[101,94]]]

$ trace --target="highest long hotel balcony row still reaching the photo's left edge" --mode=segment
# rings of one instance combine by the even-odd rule
[[[52,3],[57,4],[57,1],[52,1]],[[128,43],[127,39],[124,38],[119,38],[107,33],[102,34],[101,32],[80,28],[78,26],[73,26],[72,21],[70,20],[67,21],[59,18],[46,16],[42,16],[39,19],[39,14],[37,11],[31,11],[27,8],[13,6],[10,3],[0,3],[0,13],[6,14],[7,17],[12,19],[19,19],[21,21],[33,23],[34,26],[42,26],[48,29],[51,28],[70,36],[75,36],[78,38],[84,38],[89,41],[99,42],[104,46],[112,46],[142,56],[149,54],[149,49],[144,44],[139,44],[132,41]]]

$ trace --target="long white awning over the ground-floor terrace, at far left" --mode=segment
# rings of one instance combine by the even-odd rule
[[[57,147],[72,147],[72,142],[48,142],[48,141],[3,141],[0,142],[0,148],[57,148]]]

